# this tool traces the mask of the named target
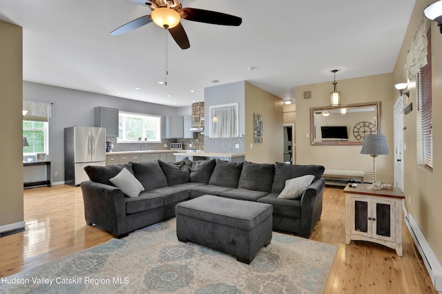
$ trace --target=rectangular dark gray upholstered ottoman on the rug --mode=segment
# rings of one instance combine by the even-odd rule
[[[175,208],[177,238],[236,256],[250,264],[271,242],[271,204],[204,195]]]

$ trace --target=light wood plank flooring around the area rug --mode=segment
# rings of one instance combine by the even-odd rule
[[[110,233],[84,221],[79,187],[59,185],[24,190],[26,229],[0,238],[0,277],[106,242]],[[335,244],[338,252],[323,293],[434,293],[410,233],[403,224],[403,257],[363,241],[345,245],[345,196],[326,186],[323,214],[312,240]]]

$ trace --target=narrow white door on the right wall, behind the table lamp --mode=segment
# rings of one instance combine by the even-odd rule
[[[404,144],[403,144],[403,101],[402,96],[394,104],[394,185],[404,190]]]

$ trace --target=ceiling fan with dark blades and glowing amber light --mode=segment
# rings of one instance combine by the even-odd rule
[[[234,25],[241,24],[242,19],[230,14],[215,12],[211,10],[202,10],[198,8],[182,8],[180,0],[129,0],[133,3],[151,8],[150,15],[144,15],[133,21],[130,21],[121,27],[113,30],[111,34],[117,36],[142,27],[152,21],[162,28],[166,28],[171,33],[175,42],[182,49],[190,48],[189,39],[180,23],[180,19],[187,21],[198,21],[201,23],[211,23],[214,25]]]

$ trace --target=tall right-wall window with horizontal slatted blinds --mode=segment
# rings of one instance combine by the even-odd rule
[[[418,164],[433,170],[433,114],[432,114],[432,52],[431,30],[427,30],[427,65],[417,76],[417,145]]]

